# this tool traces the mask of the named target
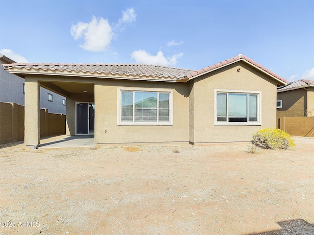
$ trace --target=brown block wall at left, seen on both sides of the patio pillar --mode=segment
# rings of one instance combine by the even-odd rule
[[[65,134],[66,116],[40,109],[40,137]],[[24,106],[0,102],[0,144],[24,140]]]

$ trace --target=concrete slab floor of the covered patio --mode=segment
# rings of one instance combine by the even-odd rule
[[[59,136],[41,141],[40,148],[92,147],[95,146],[94,135]]]

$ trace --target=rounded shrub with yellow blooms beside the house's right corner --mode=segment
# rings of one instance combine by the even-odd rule
[[[294,141],[290,135],[287,132],[277,128],[259,130],[256,134],[253,135],[252,144],[268,149],[287,149],[288,147],[295,146]]]

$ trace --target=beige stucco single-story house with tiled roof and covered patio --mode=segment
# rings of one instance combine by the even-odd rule
[[[95,143],[250,141],[276,127],[288,82],[244,55],[204,69],[143,64],[4,64],[25,78],[25,143],[39,144],[40,86],[67,97],[66,134]]]

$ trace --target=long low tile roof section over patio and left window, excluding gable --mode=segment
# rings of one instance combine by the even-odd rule
[[[68,63],[13,63],[2,64],[3,68],[17,68],[26,70],[51,70],[51,71],[75,71],[75,72],[90,72],[90,73],[104,73],[104,74],[125,74],[125,75],[139,75],[152,77],[165,77],[183,79],[186,74],[194,70],[181,69],[175,67],[161,66],[161,65],[146,65],[146,64],[68,64]]]

